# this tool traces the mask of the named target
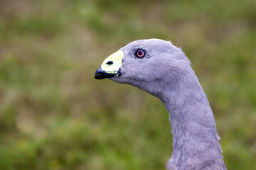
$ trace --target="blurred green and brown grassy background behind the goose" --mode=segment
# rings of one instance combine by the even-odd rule
[[[162,103],[97,81],[132,40],[182,47],[228,169],[256,169],[256,1],[0,1],[0,169],[165,169]]]

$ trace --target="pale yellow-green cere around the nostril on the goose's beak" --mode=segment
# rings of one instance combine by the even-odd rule
[[[116,74],[118,69],[122,66],[122,57],[124,57],[124,52],[122,50],[114,52],[102,63],[102,70],[109,74]]]

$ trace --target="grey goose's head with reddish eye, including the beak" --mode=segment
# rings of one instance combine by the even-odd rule
[[[159,96],[165,86],[177,88],[191,62],[170,41],[136,40],[107,57],[95,72],[95,79],[130,84]]]

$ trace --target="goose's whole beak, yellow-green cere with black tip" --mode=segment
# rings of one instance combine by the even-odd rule
[[[118,50],[112,55],[107,57],[100,68],[95,72],[95,79],[105,79],[111,77],[121,76],[120,67],[122,66],[122,58],[124,57],[124,52]]]

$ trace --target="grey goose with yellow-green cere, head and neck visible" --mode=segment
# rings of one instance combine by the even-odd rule
[[[226,169],[213,112],[181,48],[160,39],[129,42],[96,70],[95,79],[105,78],[136,86],[164,103],[173,137],[166,169]]]

